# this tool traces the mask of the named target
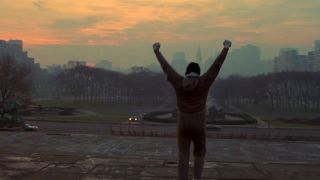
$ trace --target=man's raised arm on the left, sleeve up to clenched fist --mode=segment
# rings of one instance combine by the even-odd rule
[[[175,83],[177,80],[183,78],[170,66],[168,61],[163,57],[162,53],[160,52],[160,43],[153,44],[153,51],[161,65],[163,72],[167,75],[169,82]]]

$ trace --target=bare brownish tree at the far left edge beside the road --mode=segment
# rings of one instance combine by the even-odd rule
[[[5,103],[11,99],[25,99],[29,95],[30,69],[10,55],[0,56],[0,107],[1,117],[6,113]]]

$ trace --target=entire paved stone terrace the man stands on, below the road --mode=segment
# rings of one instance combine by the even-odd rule
[[[319,142],[208,139],[204,179],[320,177]],[[176,179],[175,138],[0,132],[0,179]]]

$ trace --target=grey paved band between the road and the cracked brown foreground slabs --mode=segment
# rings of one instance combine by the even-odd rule
[[[0,132],[0,152],[176,159],[176,139],[94,134]],[[207,160],[230,162],[320,162],[320,143],[207,139]]]

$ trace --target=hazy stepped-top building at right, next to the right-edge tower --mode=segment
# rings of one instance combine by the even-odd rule
[[[298,55],[296,49],[281,49],[274,59],[274,72],[309,71],[310,61],[306,55]]]

